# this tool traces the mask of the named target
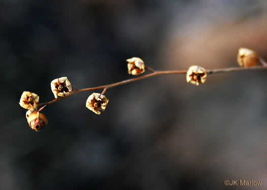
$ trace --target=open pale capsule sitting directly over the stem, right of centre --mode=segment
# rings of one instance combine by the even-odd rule
[[[186,73],[187,83],[198,86],[199,84],[205,83],[207,79],[207,72],[205,68],[197,65],[192,65],[188,68]]]

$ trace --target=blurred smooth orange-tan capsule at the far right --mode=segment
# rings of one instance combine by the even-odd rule
[[[239,48],[237,61],[242,67],[251,67],[258,64],[258,55],[253,50],[247,48]]]

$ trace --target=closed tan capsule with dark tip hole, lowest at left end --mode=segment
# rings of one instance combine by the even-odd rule
[[[43,113],[40,113],[39,111],[30,113],[28,116],[26,113],[26,118],[27,118],[29,127],[35,131],[39,131],[45,125],[48,124],[48,120],[46,119],[45,115],[43,115]]]

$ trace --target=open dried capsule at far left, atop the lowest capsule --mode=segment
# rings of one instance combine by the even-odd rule
[[[35,110],[39,102],[39,96],[35,93],[24,91],[20,97],[19,105],[25,109]]]

